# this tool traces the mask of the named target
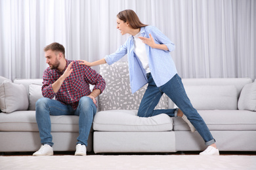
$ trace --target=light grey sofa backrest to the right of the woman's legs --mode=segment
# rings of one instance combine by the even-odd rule
[[[194,108],[234,110],[238,109],[242,88],[252,80],[251,78],[183,78],[182,82]],[[169,105],[173,105],[171,99]]]

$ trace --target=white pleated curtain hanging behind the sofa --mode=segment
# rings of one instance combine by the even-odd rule
[[[0,76],[41,78],[51,42],[68,59],[104,58],[129,36],[116,29],[124,9],[176,44],[182,78],[255,79],[255,0],[0,0]]]

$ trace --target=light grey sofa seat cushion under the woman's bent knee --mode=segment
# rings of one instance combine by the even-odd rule
[[[93,121],[95,131],[171,131],[173,121],[167,114],[149,118],[137,116],[138,110],[105,110],[97,112]]]

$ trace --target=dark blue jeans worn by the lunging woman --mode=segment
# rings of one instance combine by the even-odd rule
[[[202,136],[206,145],[211,145],[215,143],[215,139],[211,135],[207,125],[203,121],[203,118],[198,114],[198,111],[192,106],[190,99],[186,95],[184,86],[181,81],[181,77],[176,74],[163,86],[157,87],[152,75],[148,73],[148,88],[144,93],[140,107],[138,110],[138,116],[140,117],[149,117],[156,116],[161,113],[165,113],[171,117],[177,116],[177,109],[156,109],[156,105],[160,101],[161,95],[165,93],[179,109],[182,110],[191,124],[196,128],[198,133]]]

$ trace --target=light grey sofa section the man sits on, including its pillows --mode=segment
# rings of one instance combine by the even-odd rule
[[[0,76],[0,152],[34,152],[40,148],[35,120],[35,103],[43,97],[43,80],[15,79]],[[54,151],[74,151],[77,142],[78,116],[51,116]],[[93,150],[93,134],[87,151]]]

